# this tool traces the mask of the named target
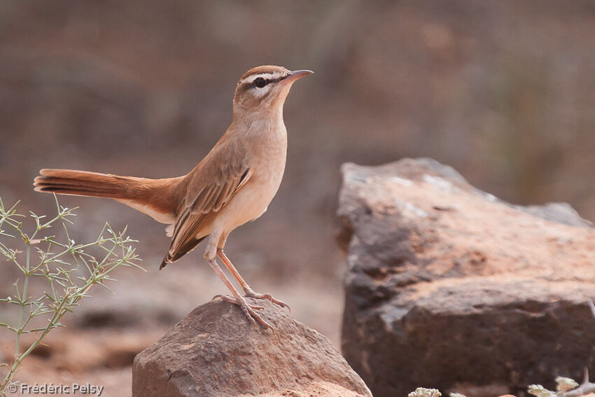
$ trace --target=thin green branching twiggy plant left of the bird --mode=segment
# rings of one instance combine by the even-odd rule
[[[69,219],[76,216],[73,209],[61,207],[55,197],[57,215],[45,221],[45,216],[38,216],[33,212],[29,216],[33,218],[35,227],[30,234],[23,230],[23,223],[18,221],[23,215],[16,211],[17,204],[6,209],[0,197],[0,237],[12,239],[18,242],[20,237],[24,249],[9,248],[6,242],[0,242],[0,255],[18,267],[23,277],[13,284],[15,292],[7,298],[0,298],[0,305],[18,308],[18,321],[16,324],[0,323],[0,329],[11,332],[15,335],[15,351],[13,352],[14,362],[12,365],[0,363],[0,368],[8,368],[0,382],[0,396],[6,393],[6,387],[12,384],[15,374],[20,369],[22,361],[38,346],[50,330],[62,327],[60,319],[73,308],[78,306],[80,300],[88,296],[90,288],[94,285],[106,286],[105,281],[111,281],[110,276],[113,270],[120,266],[140,267],[137,263],[140,259],[131,244],[137,242],[124,237],[126,228],[119,233],[114,232],[108,223],[105,223],[99,236],[94,242],[84,244],[76,243],[71,239],[66,223],[72,223]],[[64,239],[57,239],[55,235],[39,236],[43,230],[52,228],[57,222],[62,221],[64,228]],[[105,232],[110,237],[104,237]],[[37,244],[47,243],[47,249],[37,248]],[[37,252],[36,259],[31,255],[31,246]],[[57,250],[57,251],[56,251]],[[90,252],[87,252],[90,250]],[[92,251],[99,251],[101,255],[94,256]],[[25,258],[21,258],[24,254]],[[67,255],[69,254],[69,255]],[[70,259],[69,259],[70,258]],[[20,262],[22,260],[22,262]],[[83,274],[78,273],[80,262],[84,267]],[[144,270],[144,269],[143,269]],[[49,284],[50,292],[43,292],[40,296],[33,298],[29,296],[29,279],[41,277]],[[45,317],[45,327],[33,328],[31,321],[36,318]],[[35,335],[34,342],[21,350],[21,335]]]

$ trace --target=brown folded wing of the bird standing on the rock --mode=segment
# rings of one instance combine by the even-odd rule
[[[191,243],[200,237],[204,225],[250,179],[250,169],[237,151],[211,152],[188,177],[186,207],[182,209],[174,228],[168,253],[170,258],[179,258],[187,252],[181,251],[193,245]]]

